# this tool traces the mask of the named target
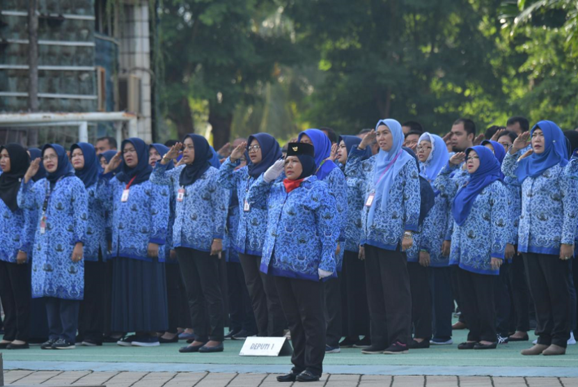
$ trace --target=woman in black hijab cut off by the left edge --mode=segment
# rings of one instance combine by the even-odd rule
[[[0,147],[0,298],[4,310],[4,338],[0,349],[29,347],[31,234],[25,234],[29,211],[18,207],[17,196],[30,159],[22,145]]]

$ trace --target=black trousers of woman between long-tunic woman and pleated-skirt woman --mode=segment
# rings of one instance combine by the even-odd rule
[[[84,300],[80,301],[78,335],[81,340],[102,341],[106,267],[102,260],[84,261]]]

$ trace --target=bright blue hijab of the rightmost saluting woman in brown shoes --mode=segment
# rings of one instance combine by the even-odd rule
[[[552,121],[540,121],[534,125],[531,134],[536,129],[542,129],[544,133],[544,152],[540,155],[532,153],[518,162],[516,175],[520,183],[524,182],[526,177],[538,177],[555,165],[566,166],[568,164],[568,150],[562,129]]]

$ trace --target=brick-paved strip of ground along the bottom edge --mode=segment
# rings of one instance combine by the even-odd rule
[[[109,387],[270,387],[279,384],[276,374],[228,374],[208,372],[4,372],[7,385],[102,385]],[[302,384],[295,383],[296,386]],[[578,387],[578,378],[552,377],[445,377],[324,374],[312,386],[324,387]]]

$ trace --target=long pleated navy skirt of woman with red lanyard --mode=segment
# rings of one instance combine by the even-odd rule
[[[114,258],[111,330],[166,331],[169,311],[163,262]]]

